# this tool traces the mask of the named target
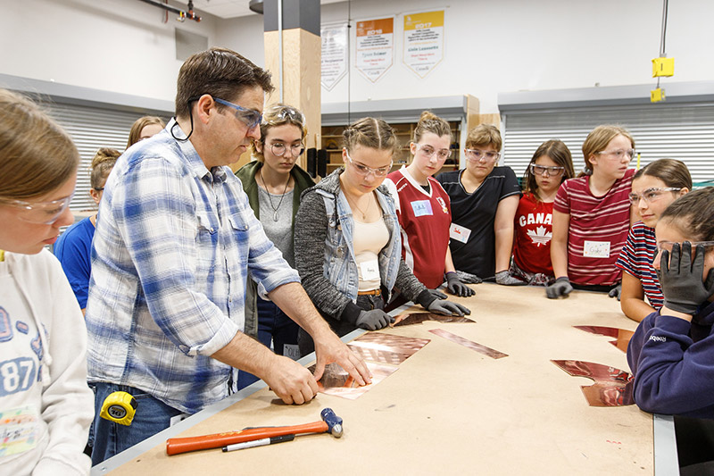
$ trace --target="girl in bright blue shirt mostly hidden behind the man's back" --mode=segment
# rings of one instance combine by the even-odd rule
[[[104,184],[119,156],[118,150],[103,147],[96,151],[92,159],[89,173],[89,183],[92,188],[89,194],[96,205],[99,205],[102,199]],[[70,280],[82,313],[87,310],[89,276],[92,272],[92,238],[95,236],[95,227],[96,213],[65,230],[54,245],[54,255],[62,263],[62,269]]]

